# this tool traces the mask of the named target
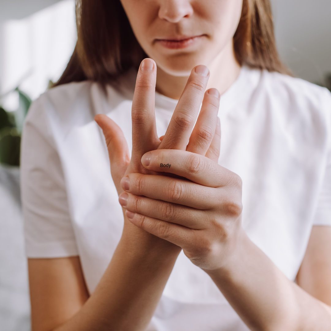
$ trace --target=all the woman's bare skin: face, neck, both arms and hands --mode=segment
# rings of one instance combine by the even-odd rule
[[[141,6],[144,2],[148,6]],[[217,164],[219,99],[215,89],[205,95],[204,90],[213,84],[223,93],[238,76],[231,45],[240,1],[123,0],[122,4],[137,39],[156,61],[145,60],[150,63],[144,69],[151,63],[152,69],[141,66],[138,72],[131,159],[116,123],[105,116],[96,118],[124,208],[123,235],[91,295],[79,257],[29,259],[32,331],[144,330],[181,249],[211,276],[251,330],[329,330],[331,229],[313,227],[297,284],[289,281],[246,236],[241,227],[241,180]],[[213,14],[230,17],[229,22],[220,29],[224,20],[213,20]],[[199,26],[198,31],[193,26]],[[213,29],[226,32],[217,35]],[[206,38],[185,54],[163,51],[152,38],[152,33],[164,38],[160,31],[170,36],[178,31],[205,33]],[[199,64],[208,65],[210,72],[195,67]],[[184,91],[163,139],[155,129],[155,86],[177,99]],[[171,164],[163,171],[188,180],[162,175],[160,163]]]

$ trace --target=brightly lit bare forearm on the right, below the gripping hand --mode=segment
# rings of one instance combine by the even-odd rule
[[[206,272],[251,330],[330,330],[330,307],[288,280],[244,232],[237,244],[224,267]]]

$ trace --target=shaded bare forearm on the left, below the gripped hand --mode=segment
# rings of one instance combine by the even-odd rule
[[[124,231],[94,293],[54,331],[144,330],[179,252],[177,246],[149,233],[134,237]]]

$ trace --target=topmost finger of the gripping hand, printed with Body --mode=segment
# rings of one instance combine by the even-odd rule
[[[148,170],[169,172],[209,187],[225,186],[237,176],[205,156],[180,150],[154,150],[143,155],[141,163]]]

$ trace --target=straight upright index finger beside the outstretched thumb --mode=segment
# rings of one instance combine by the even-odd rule
[[[139,67],[132,100],[132,158],[155,149],[160,140],[155,122],[156,64],[144,59]]]

